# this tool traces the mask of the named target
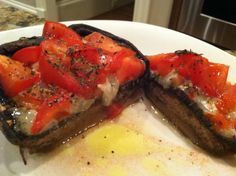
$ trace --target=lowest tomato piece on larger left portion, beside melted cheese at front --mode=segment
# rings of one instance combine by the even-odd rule
[[[44,101],[37,111],[35,120],[31,128],[32,134],[38,134],[53,120],[60,120],[70,114],[70,96],[60,93],[49,97]]]

